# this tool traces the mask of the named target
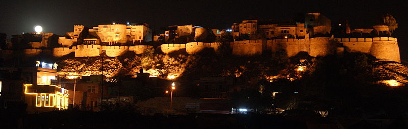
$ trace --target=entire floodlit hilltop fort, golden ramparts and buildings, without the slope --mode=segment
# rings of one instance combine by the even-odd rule
[[[73,32],[67,32],[65,36],[40,32],[16,35],[14,38],[38,37],[37,41],[29,42],[30,48],[23,49],[24,54],[29,56],[47,51],[55,57],[71,53],[75,57],[97,57],[101,53],[119,57],[127,51],[139,55],[149,48],[160,49],[164,54],[183,49],[192,55],[205,48],[217,51],[223,44],[237,56],[262,55],[284,49],[289,57],[301,51],[312,57],[361,52],[378,60],[400,62],[397,38],[391,36],[387,25],[350,29],[347,22],[338,22],[332,26],[330,19],[320,13],[307,13],[304,19],[304,22],[282,23],[243,20],[234,23],[228,30],[171,25],[165,33],[158,35],[152,34],[147,23],[100,24],[92,28],[74,25]],[[232,36],[233,39],[217,40],[222,36]],[[12,54],[12,50],[2,50],[2,54]]]

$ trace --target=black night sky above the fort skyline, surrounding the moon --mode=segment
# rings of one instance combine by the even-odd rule
[[[156,33],[167,25],[194,24],[229,29],[240,20],[295,18],[320,12],[332,22],[347,19],[351,28],[371,28],[379,14],[397,19],[402,60],[408,60],[408,2],[406,1],[2,1],[0,32],[10,35],[34,32],[41,25],[46,33],[64,35],[74,24],[148,23]]]

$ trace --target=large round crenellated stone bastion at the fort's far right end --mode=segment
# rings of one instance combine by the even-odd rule
[[[373,38],[370,54],[379,60],[401,62],[397,38]]]

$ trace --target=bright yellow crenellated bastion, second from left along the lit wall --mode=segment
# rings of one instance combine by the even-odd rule
[[[77,45],[75,57],[97,57],[101,52],[102,49],[100,45]]]

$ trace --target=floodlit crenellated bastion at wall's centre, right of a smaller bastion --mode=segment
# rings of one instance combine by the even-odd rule
[[[188,54],[196,54],[205,48],[214,48],[215,51],[218,50],[220,43],[206,43],[206,42],[189,42],[186,44],[186,51]]]

